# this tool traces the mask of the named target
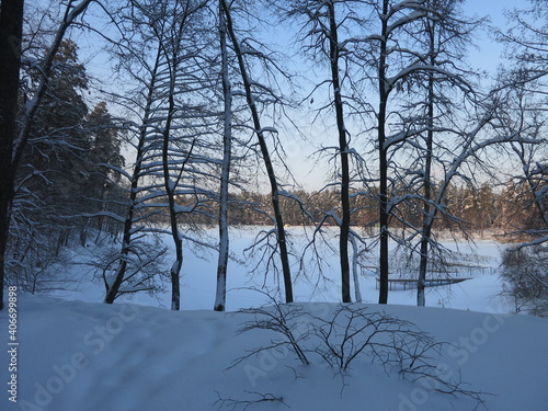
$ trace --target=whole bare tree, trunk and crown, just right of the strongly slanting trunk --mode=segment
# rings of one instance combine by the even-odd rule
[[[316,1],[304,0],[277,4],[284,13],[302,25],[300,30],[300,43],[302,49],[315,60],[326,61],[329,66],[329,79],[322,83],[315,84],[315,90],[324,84],[330,87],[329,103],[320,111],[332,110],[336,125],[336,157],[339,158],[336,185],[339,190],[340,207],[335,210],[326,210],[333,217],[340,229],[339,236],[339,262],[341,267],[341,294],[342,301],[350,302],[351,297],[351,264],[349,246],[352,243],[356,252],[355,233],[351,230],[351,162],[353,157],[359,157],[351,146],[351,135],[349,129],[349,114],[345,113],[347,105],[352,105],[352,98],[347,90],[352,89],[353,79],[352,61],[355,59],[352,50],[352,41],[343,38],[341,32],[352,33],[358,30],[362,22],[358,19],[367,1]],[[350,83],[350,84],[347,84]],[[313,93],[313,91],[312,91]],[[307,99],[308,100],[308,99]],[[359,236],[357,236],[359,237]],[[355,256],[355,255],[354,255]],[[356,293],[359,290],[356,289]]]

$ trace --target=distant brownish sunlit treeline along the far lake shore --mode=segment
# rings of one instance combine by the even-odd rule
[[[308,192],[288,191],[282,196],[284,221],[288,226],[313,225],[336,226],[333,215],[340,207],[340,194],[335,190]],[[400,195],[403,195],[400,194]],[[179,198],[185,205],[184,198]],[[192,199],[194,202],[194,199]],[[191,199],[189,199],[189,204]],[[205,201],[208,210],[217,208],[215,199]],[[543,226],[535,209],[530,191],[524,183],[509,182],[502,190],[487,183],[479,187],[456,186],[447,190],[446,209],[439,214],[434,228],[436,230],[463,230],[470,235],[509,233],[516,230],[535,229]],[[374,229],[378,220],[378,193],[369,190],[353,192],[351,195],[352,225]],[[269,194],[232,194],[229,206],[231,225],[273,225],[272,207]],[[335,213],[333,213],[335,212]],[[421,203],[416,199],[399,204],[393,216],[392,227],[421,227]],[[216,225],[215,213],[191,213],[182,215],[182,222]],[[157,216],[158,221],[162,220]],[[507,238],[506,238],[507,240]]]

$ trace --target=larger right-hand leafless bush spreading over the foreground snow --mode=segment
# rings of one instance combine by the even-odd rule
[[[386,373],[398,372],[411,383],[425,381],[437,392],[465,396],[484,407],[481,392],[466,389],[466,384],[447,378],[437,367],[445,343],[414,323],[362,305],[340,305],[329,319],[313,317],[312,352],[342,374],[350,372],[358,357],[380,364]]]

